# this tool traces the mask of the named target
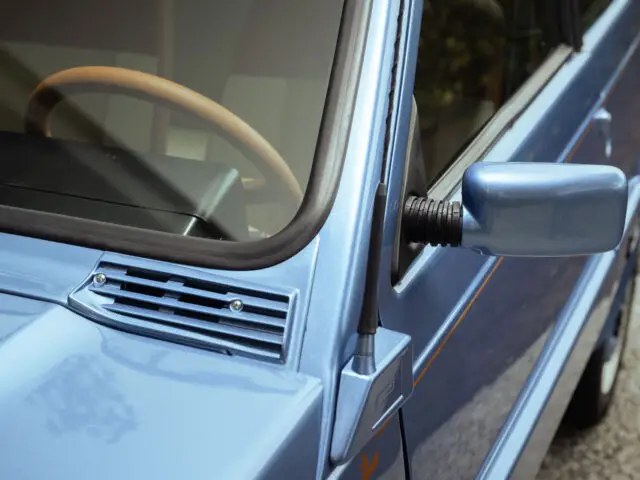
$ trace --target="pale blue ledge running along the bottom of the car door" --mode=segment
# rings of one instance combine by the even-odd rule
[[[629,256],[628,247],[638,226],[640,177],[632,179],[629,190],[622,242],[587,262],[479,478],[531,478],[537,473],[589,355],[615,318],[634,273],[637,245]]]

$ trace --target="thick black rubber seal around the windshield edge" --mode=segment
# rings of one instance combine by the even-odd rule
[[[316,236],[337,194],[372,1],[345,0],[309,185],[296,217],[278,234],[256,242],[233,243],[180,237],[5,205],[0,205],[0,231],[223,270],[266,268],[295,255]]]

